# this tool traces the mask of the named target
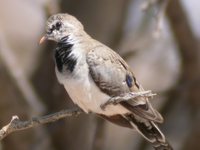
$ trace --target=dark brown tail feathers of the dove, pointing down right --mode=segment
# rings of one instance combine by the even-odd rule
[[[137,116],[132,114],[124,117],[126,117],[130,121],[130,124],[153,145],[155,150],[173,150],[165,139],[164,134],[153,121],[141,120],[141,118],[136,118]]]

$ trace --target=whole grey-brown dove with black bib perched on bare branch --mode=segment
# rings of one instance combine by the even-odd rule
[[[57,43],[54,58],[58,81],[84,112],[136,129],[157,150],[172,150],[156,125],[163,118],[148,98],[138,97],[101,108],[111,97],[144,91],[116,52],[89,36],[69,14],[56,14],[48,19],[40,43],[45,40]]]

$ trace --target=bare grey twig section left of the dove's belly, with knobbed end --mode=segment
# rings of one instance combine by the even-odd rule
[[[18,116],[13,116],[10,123],[0,130],[0,140],[13,132],[37,127],[41,124],[55,122],[65,117],[77,116],[82,112],[83,111],[80,108],[67,109],[42,117],[34,117],[28,121],[21,121]]]

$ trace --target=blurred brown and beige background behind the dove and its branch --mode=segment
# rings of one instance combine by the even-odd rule
[[[167,5],[168,3],[168,5]],[[39,45],[47,18],[67,12],[117,51],[146,90],[175,150],[200,149],[200,1],[1,0],[0,128],[72,108],[54,73],[54,43]],[[8,135],[0,150],[150,150],[130,129],[81,114]]]

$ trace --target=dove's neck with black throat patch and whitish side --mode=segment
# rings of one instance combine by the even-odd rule
[[[65,36],[58,42],[54,57],[59,72],[73,72],[79,58],[77,52],[82,53],[85,48],[80,47],[90,39],[92,38],[85,31],[81,31]]]

